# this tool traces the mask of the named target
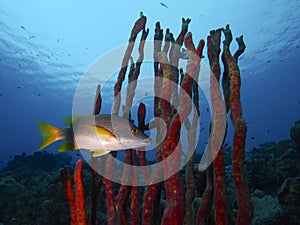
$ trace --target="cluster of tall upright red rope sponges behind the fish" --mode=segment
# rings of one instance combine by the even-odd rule
[[[150,180],[155,179],[156,176],[160,176],[163,173],[165,179],[161,183],[150,184],[144,190],[143,197],[143,208],[141,221],[139,221],[139,212],[137,211],[137,205],[139,202],[138,188],[134,185],[136,180],[135,171],[129,171],[129,168],[125,168],[122,175],[122,181],[126,183],[121,184],[118,188],[117,195],[115,195],[114,184],[110,175],[116,169],[113,165],[113,159],[116,153],[111,153],[108,157],[105,165],[106,172],[103,183],[105,184],[106,192],[106,209],[107,209],[107,224],[126,224],[128,221],[130,224],[228,224],[228,209],[227,209],[227,197],[226,197],[226,182],[225,182],[225,165],[223,158],[223,151],[217,146],[216,138],[211,141],[212,155],[216,159],[214,163],[210,165],[206,171],[206,188],[202,196],[202,201],[199,205],[199,209],[193,209],[192,205],[195,196],[195,178],[194,178],[194,162],[195,154],[193,153],[194,140],[195,140],[195,127],[197,127],[196,112],[200,112],[199,109],[199,97],[197,80],[200,71],[200,62],[202,59],[202,51],[204,47],[204,40],[200,40],[197,48],[194,46],[192,34],[188,32],[188,25],[190,19],[182,19],[181,32],[175,39],[169,29],[166,31],[164,46],[162,45],[163,30],[160,28],[159,22],[156,23],[155,36],[154,36],[154,75],[158,79],[154,82],[154,91],[157,94],[154,97],[154,115],[156,118],[161,118],[166,124],[166,136],[162,143],[157,146],[156,149],[156,162],[163,161],[163,171],[153,172]],[[122,67],[119,72],[118,79],[114,87],[114,105],[112,114],[117,114],[120,108],[121,99],[121,88],[122,83],[125,80],[125,74],[127,71],[129,59],[133,51],[135,40],[139,32],[142,32],[141,42],[139,44],[139,58],[137,63],[134,64],[131,59],[131,67],[128,75],[128,85],[126,104],[122,108],[123,116],[130,116],[130,109],[132,106],[132,99],[134,97],[136,82],[140,73],[140,66],[143,61],[143,49],[144,43],[148,36],[149,30],[145,29],[146,17],[141,13],[140,18],[134,24],[129,43],[125,51]],[[232,40],[231,30],[229,25],[226,29],[218,29],[211,31],[207,38],[208,44],[208,57],[210,61],[210,67],[212,71],[211,83],[212,87],[212,111],[213,118],[211,121],[211,135],[221,136],[220,133],[220,112],[225,108],[222,103],[218,103],[216,99],[221,99],[221,93],[219,90],[219,79],[220,79],[220,36],[221,31],[225,34],[224,50],[222,59],[225,67],[225,73],[223,74],[224,81],[223,85],[224,93],[226,95],[226,109],[227,112],[230,110],[230,116],[235,127],[234,133],[234,151],[233,151],[233,177],[235,181],[235,189],[238,202],[238,213],[236,217],[236,224],[251,224],[253,216],[253,207],[248,191],[246,178],[244,175],[244,144],[246,138],[246,123],[242,118],[242,107],[240,102],[240,72],[238,68],[238,57],[244,52],[245,44],[242,37],[237,38],[239,44],[238,51],[232,56],[230,52],[230,42]],[[188,50],[188,61],[186,65],[186,72],[180,70],[179,74],[179,55],[180,49],[185,44]],[[169,53],[169,54],[168,54]],[[181,78],[179,79],[179,75]],[[213,82],[213,78],[217,80],[217,83]],[[180,80],[180,82],[179,82]],[[179,89],[180,87],[180,89]],[[98,88],[99,89],[99,88]],[[97,93],[99,90],[97,90]],[[160,94],[161,95],[158,95]],[[158,97],[161,96],[161,97]],[[98,98],[100,98],[98,96]],[[96,94],[95,103],[101,102]],[[190,99],[193,99],[194,105]],[[95,108],[97,105],[95,105]],[[94,110],[99,112],[100,110]],[[193,124],[187,119],[191,112],[194,111]],[[145,125],[145,109],[141,104],[139,107],[139,125],[142,129],[149,129],[149,126]],[[159,121],[156,119],[156,125],[159,125]],[[183,182],[182,172],[172,173],[172,171],[178,171],[177,168],[181,164],[181,143],[180,133],[181,127],[185,126],[189,132],[189,152],[191,159],[188,162],[185,170],[185,183]],[[225,129],[225,128],[224,128]],[[222,141],[222,140],[221,140]],[[179,150],[178,150],[179,149]],[[137,154],[137,155],[136,155]],[[210,153],[209,153],[210,154]],[[145,155],[136,150],[126,150],[124,162],[128,165],[136,165],[136,157],[139,156],[139,160],[143,165],[147,165],[145,161]],[[169,158],[173,157],[172,160]],[[212,158],[211,158],[212,160]],[[85,200],[83,198],[83,190],[81,188],[82,182],[78,182],[79,174],[81,174],[81,161],[78,162],[75,169],[75,190],[73,191],[70,186],[70,176],[67,168],[61,171],[63,174],[62,178],[65,183],[66,193],[70,205],[72,224],[86,224],[87,220],[84,213],[80,212],[84,210]],[[79,172],[78,172],[79,171]],[[145,177],[149,179],[147,171],[143,171]],[[169,175],[170,174],[170,175]],[[133,185],[127,184],[128,177],[133,176]],[[93,172],[93,180],[96,180],[96,173]],[[79,187],[78,187],[79,185]],[[94,185],[92,185],[94,186]],[[78,190],[81,190],[78,193]],[[74,192],[75,200],[74,200]],[[77,201],[79,196],[80,203]],[[92,194],[92,202],[95,202],[93,198],[97,198],[96,195]],[[162,198],[164,201],[162,201]],[[164,202],[163,206],[162,203]],[[127,210],[130,204],[130,210]],[[92,205],[92,204],[91,204]],[[93,206],[95,207],[95,206]],[[93,207],[90,208],[94,212]],[[74,209],[78,208],[76,212]],[[162,211],[163,208],[163,211]],[[197,211],[197,212],[196,212]],[[77,219],[74,219],[77,217]],[[95,217],[90,217],[89,223],[95,224]]]

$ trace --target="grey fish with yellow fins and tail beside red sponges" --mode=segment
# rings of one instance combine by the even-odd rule
[[[69,127],[60,129],[41,120],[37,121],[42,136],[38,150],[63,140],[58,152],[87,149],[93,157],[99,157],[110,151],[145,147],[152,142],[131,121],[117,115],[73,115],[66,117],[64,122]]]

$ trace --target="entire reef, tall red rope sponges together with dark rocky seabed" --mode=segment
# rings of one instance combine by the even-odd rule
[[[122,84],[131,60],[126,104],[122,108],[123,116],[130,119],[136,81],[144,57],[145,40],[149,34],[149,30],[145,28],[146,21],[146,17],[141,13],[132,28],[114,86],[112,114],[117,114],[120,109]],[[193,36],[188,32],[190,22],[190,19],[182,19],[181,31],[177,38],[174,38],[169,29],[163,37],[159,22],[156,23],[155,29],[154,76],[163,79],[154,83],[156,96],[153,111],[155,123],[159,124],[157,118],[161,118],[166,124],[166,137],[157,146],[155,162],[165,161],[163,174],[166,179],[139,187],[135,185],[136,171],[125,168],[120,175],[124,183],[111,181],[111,174],[118,171],[117,166],[113,164],[116,152],[111,152],[105,158],[103,177],[81,160],[78,160],[76,165],[71,164],[71,158],[65,154],[22,154],[15,156],[0,174],[1,223],[297,224],[300,208],[297,201],[300,197],[300,122],[297,121],[291,128],[291,140],[267,143],[254,148],[250,153],[245,153],[247,126],[240,101],[241,76],[238,57],[246,46],[242,36],[237,38],[239,48],[231,54],[230,43],[233,38],[229,25],[212,30],[207,37],[211,80],[217,81],[212,83],[212,86],[215,85],[214,90],[219,90],[222,86],[225,99],[224,105],[218,104],[215,100],[220,98],[221,92],[211,94],[213,115],[210,132],[212,136],[220,135],[220,122],[216,115],[224,108],[234,126],[234,140],[232,147],[215,147],[216,143],[211,141],[209,146],[212,156],[215,157],[213,163],[208,165],[205,171],[199,171],[199,165],[195,164],[199,161],[199,156],[193,151],[196,139],[195,125],[198,123],[196,114],[201,112],[197,81],[205,42],[200,40],[195,47]],[[138,48],[139,57],[134,63],[131,54],[140,32],[142,34]],[[224,72],[221,76],[219,58],[222,32],[225,39],[221,55]],[[185,72],[178,69],[180,49],[183,45],[188,49]],[[100,93],[98,86],[93,110],[95,115],[101,111]],[[190,99],[192,101],[189,101]],[[150,129],[150,124],[146,124],[145,115],[146,106],[140,103],[138,124],[143,131]],[[192,122],[187,119],[191,115]],[[179,168],[182,157],[179,154],[182,152],[182,127],[186,127],[188,131],[187,155],[190,158],[185,167],[178,171],[176,168]],[[221,141],[224,142],[224,139]],[[143,150],[126,150],[125,164],[149,165]],[[167,160],[170,157],[173,157],[173,160]],[[92,159],[92,164],[96,167],[98,162]],[[101,166],[102,162],[104,161],[101,161]],[[174,170],[178,172],[168,176],[170,171]],[[152,181],[160,175],[155,171],[150,174],[145,168],[142,172],[147,181]],[[132,182],[130,185],[129,180]]]

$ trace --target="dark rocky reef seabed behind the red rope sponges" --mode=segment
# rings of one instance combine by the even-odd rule
[[[231,158],[231,147],[227,147],[223,153],[225,159]],[[196,158],[199,156],[196,155]],[[280,164],[285,158],[291,161]],[[299,158],[299,145],[291,139],[278,143],[265,143],[246,153],[245,171],[254,206],[253,225],[298,224],[300,215]],[[71,158],[65,154],[53,155],[45,152],[15,156],[0,172],[0,223],[5,225],[70,224],[70,210],[64,184],[59,174],[59,169],[64,165],[69,165],[70,174],[73,174],[75,165],[70,164],[70,160]],[[262,163],[262,160],[266,163]],[[290,169],[290,163],[296,165],[293,170]],[[228,224],[234,224],[237,202],[230,160],[225,160],[225,166]],[[291,172],[281,179],[276,171]],[[91,173],[90,167],[83,163],[82,179],[86,202],[90,201]],[[193,214],[197,212],[202,202],[205,187],[205,173],[199,172],[196,168],[194,175]],[[180,177],[184,180],[184,171],[180,173]],[[266,182],[268,180],[271,182]],[[114,192],[118,191],[118,188],[119,186],[116,185]],[[186,188],[184,186],[184,189]],[[143,191],[143,188],[138,188],[139,199],[143,199]],[[106,224],[105,190],[101,186],[99,186],[99,196],[96,207],[97,223],[95,224]],[[166,204],[165,194],[162,193],[160,198],[162,212]],[[142,214],[143,208],[142,204],[137,207],[139,215]],[[88,212],[88,218],[90,216],[89,205],[85,205],[85,209]]]

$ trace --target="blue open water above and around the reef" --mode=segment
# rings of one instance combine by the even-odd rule
[[[84,72],[99,56],[127,43],[140,11],[147,16],[149,40],[156,21],[176,36],[182,17],[192,19],[189,30],[196,41],[228,23],[234,36],[243,34],[247,49],[239,65],[248,124],[246,150],[289,138],[289,128],[300,118],[299,1],[164,3],[168,8],[160,1],[2,0],[0,167],[14,155],[36,151],[41,140],[37,120],[63,126]],[[109,112],[112,97],[103,99],[103,111]],[[231,138],[229,134],[227,142]],[[54,144],[46,150],[56,148]]]

